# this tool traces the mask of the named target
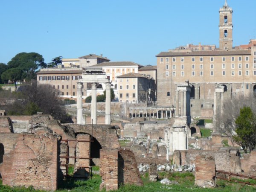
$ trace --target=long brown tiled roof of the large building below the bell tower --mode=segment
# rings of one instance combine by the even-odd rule
[[[206,50],[192,52],[160,52],[156,57],[161,56],[207,56],[207,55],[250,55],[250,50]]]

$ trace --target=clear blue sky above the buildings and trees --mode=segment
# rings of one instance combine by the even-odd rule
[[[227,0],[233,45],[256,38],[256,0]],[[103,54],[111,61],[156,65],[159,52],[216,44],[224,0],[1,0],[0,62],[19,52],[52,58]]]

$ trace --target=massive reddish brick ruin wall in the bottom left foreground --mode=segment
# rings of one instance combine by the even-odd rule
[[[42,134],[44,132],[44,134]],[[58,185],[58,137],[39,131],[19,134],[14,150],[3,156],[3,184],[56,190]]]

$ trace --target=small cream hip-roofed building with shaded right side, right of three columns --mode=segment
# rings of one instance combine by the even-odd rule
[[[140,73],[127,73],[117,77],[119,102],[140,103],[155,101],[155,83],[152,77]]]

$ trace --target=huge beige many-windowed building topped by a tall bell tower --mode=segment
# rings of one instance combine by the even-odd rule
[[[256,92],[256,40],[233,47],[233,10],[225,3],[219,10],[219,47],[187,45],[157,56],[157,105],[175,106],[175,90],[189,80],[191,115],[211,117],[216,86],[224,96]]]

